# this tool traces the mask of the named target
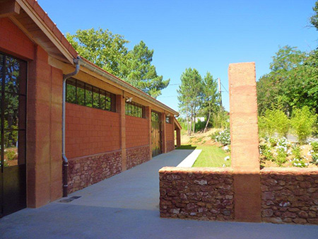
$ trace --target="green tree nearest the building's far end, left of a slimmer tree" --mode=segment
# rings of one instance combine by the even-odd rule
[[[202,77],[199,71],[192,68],[185,69],[177,93],[179,94],[179,109],[187,116],[187,121],[190,122],[188,134],[191,134],[191,132],[195,132],[196,115],[199,112],[202,100]]]

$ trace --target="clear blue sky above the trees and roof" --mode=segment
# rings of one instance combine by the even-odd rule
[[[38,0],[62,33],[103,28],[124,35],[131,49],[143,40],[153,64],[170,84],[158,100],[178,110],[177,88],[188,67],[220,77],[228,103],[228,64],[255,62],[257,79],[269,72],[279,46],[317,47],[308,28],[314,0],[276,1],[81,1]]]

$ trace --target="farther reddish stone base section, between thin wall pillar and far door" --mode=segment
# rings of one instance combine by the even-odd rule
[[[126,167],[134,168],[136,165],[150,161],[150,148],[148,145],[126,149]]]

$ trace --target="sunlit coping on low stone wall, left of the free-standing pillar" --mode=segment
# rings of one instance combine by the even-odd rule
[[[183,167],[163,167],[159,173],[226,173],[232,174],[232,168],[183,168]]]

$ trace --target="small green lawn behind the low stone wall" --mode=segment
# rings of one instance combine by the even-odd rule
[[[226,153],[218,146],[182,145],[177,149],[202,149],[192,167],[223,167],[223,164],[230,167],[231,165],[230,159],[224,160],[226,156],[230,156],[230,153]]]

